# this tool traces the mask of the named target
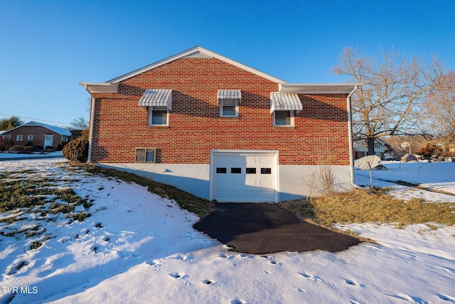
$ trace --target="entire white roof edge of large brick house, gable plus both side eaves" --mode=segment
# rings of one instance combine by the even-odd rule
[[[161,65],[165,65],[166,63],[170,63],[171,61],[176,61],[180,58],[217,58],[220,61],[225,61],[226,63],[230,63],[232,65],[237,66],[238,68],[242,68],[243,70],[247,70],[250,73],[259,75],[263,78],[273,81],[274,83],[279,84],[279,92],[280,93],[304,93],[304,94],[319,94],[319,93],[331,93],[331,94],[342,94],[342,93],[351,93],[356,87],[360,86],[360,83],[321,83],[321,84],[306,84],[306,83],[287,83],[282,79],[276,78],[272,75],[267,73],[261,72],[260,70],[256,70],[255,68],[251,68],[248,65],[244,65],[237,61],[233,61],[230,58],[225,56],[221,56],[218,53],[214,53],[212,51],[208,51],[205,48],[200,46],[196,46],[194,48],[190,48],[187,51],[183,51],[178,53],[174,56],[165,58],[161,61],[157,61],[156,63],[152,63],[151,65],[146,65],[144,68],[139,68],[137,70],[133,70],[130,73],[121,75],[117,78],[108,80],[105,83],[79,83],[82,85],[85,90],[90,93],[117,93],[119,88],[119,83],[123,80],[128,78],[132,78],[136,75],[141,73],[145,73],[149,70],[153,70],[154,68],[158,68]]]

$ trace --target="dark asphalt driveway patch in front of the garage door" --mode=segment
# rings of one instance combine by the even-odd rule
[[[252,254],[280,251],[343,251],[361,241],[348,234],[300,221],[278,204],[216,203],[193,225],[233,251]]]

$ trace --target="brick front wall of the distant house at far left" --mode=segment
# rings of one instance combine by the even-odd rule
[[[43,147],[43,145],[44,145],[44,135],[45,134],[54,135],[52,148],[57,149],[58,145],[60,145],[61,140],[62,140],[61,135],[56,132],[46,129],[45,127],[24,125],[22,127],[18,127],[17,129],[4,133],[4,135],[11,135],[11,140],[14,142],[14,145],[23,146],[23,145],[26,145],[27,142],[31,142],[32,145],[39,146],[39,147]],[[18,142],[16,140],[17,135],[22,135],[22,141]],[[33,135],[33,140],[28,140],[28,135]],[[67,142],[63,142],[62,147],[65,144],[67,144]],[[50,147],[48,147],[48,148],[50,148]]]

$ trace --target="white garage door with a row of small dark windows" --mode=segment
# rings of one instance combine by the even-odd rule
[[[277,152],[213,151],[212,198],[216,201],[277,201]]]

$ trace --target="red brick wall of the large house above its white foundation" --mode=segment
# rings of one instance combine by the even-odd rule
[[[172,89],[168,127],[149,127],[138,101],[145,89]],[[242,90],[238,118],[220,117],[219,89]],[[134,162],[136,147],[162,163],[208,164],[210,150],[279,150],[280,164],[316,164],[321,149],[349,164],[347,95],[300,95],[294,127],[274,127],[270,92],[278,85],[216,58],[181,58],[122,81],[96,98],[92,161]]]

